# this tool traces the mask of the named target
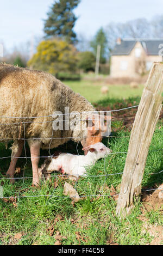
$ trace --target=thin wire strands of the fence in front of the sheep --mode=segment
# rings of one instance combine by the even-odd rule
[[[131,107],[126,107],[126,108],[121,108],[121,109],[115,109],[115,110],[112,110],[112,111],[102,111],[102,112],[118,112],[118,111],[123,111],[125,109],[129,109],[129,108],[136,108],[138,107],[139,105],[136,105],[136,106],[131,106]],[[101,111],[97,111],[98,113],[101,112]],[[90,113],[90,112],[81,112],[81,113],[73,113],[73,114],[85,114],[85,113]],[[65,113],[65,114],[57,114],[57,115],[67,115],[70,113]],[[45,116],[36,116],[36,117],[0,117],[0,118],[15,118],[15,119],[34,119],[34,118],[45,118],[45,117],[54,117],[54,114],[52,115],[45,115]],[[132,117],[122,117],[122,118],[118,118],[118,117],[115,117],[112,119],[112,121],[115,121],[115,120],[120,120],[120,119],[131,119],[131,118],[135,118],[135,116],[132,116]],[[23,138],[15,138],[15,139],[18,139],[19,140],[23,140],[24,141],[24,154],[25,156],[19,156],[19,157],[16,157],[16,156],[12,156],[12,158],[16,158],[16,159],[26,159],[26,163],[24,164],[24,167],[23,167],[23,176],[22,177],[15,177],[15,178],[8,178],[8,177],[5,177],[5,176],[2,176],[0,177],[0,179],[8,179],[8,180],[11,180],[11,179],[22,179],[23,180],[23,184],[24,184],[24,180],[26,179],[33,179],[33,177],[27,177],[25,176],[25,169],[26,169],[26,166],[27,166],[27,163],[28,163],[28,159],[31,159],[31,156],[28,157],[27,156],[27,151],[26,151],[26,141],[28,140],[42,140],[42,139],[50,139],[50,142],[49,142],[49,146],[48,146],[48,153],[49,155],[48,156],[36,156],[36,157],[33,157],[33,158],[44,158],[44,159],[47,159],[47,158],[51,158],[51,160],[53,159],[54,155],[51,154],[51,143],[53,141],[53,139],[74,139],[74,138],[78,138],[78,139],[81,139],[82,137],[53,137],[53,133],[54,133],[54,130],[52,129],[52,137],[50,138],[26,138],[26,124],[29,124],[29,123],[52,123],[54,120],[52,121],[20,121],[20,122],[17,122],[17,123],[0,123],[0,125],[20,125],[22,126],[23,124],[23,128],[24,128],[24,132],[23,132]],[[62,121],[65,121],[65,120],[62,120]],[[158,132],[162,132],[162,131],[156,131],[156,133]],[[129,138],[130,135],[127,135],[127,136],[112,136],[112,135],[109,135],[109,136],[95,136],[95,137],[102,137],[102,138],[108,138],[108,143],[109,143],[109,138]],[[1,141],[11,141],[12,138],[3,138],[1,139]],[[102,185],[102,190],[101,190],[101,194],[92,194],[92,195],[86,195],[86,196],[79,196],[80,198],[84,198],[84,197],[97,197],[97,196],[100,196],[100,197],[111,197],[109,194],[104,194],[104,184],[106,182],[106,178],[108,176],[113,176],[113,175],[121,175],[123,174],[123,172],[117,172],[117,173],[110,173],[108,174],[106,172],[106,156],[104,156],[104,167],[103,167],[103,170],[104,170],[104,174],[102,175],[79,175],[79,151],[78,151],[78,144],[79,144],[79,141],[77,143],[77,146],[76,146],[76,150],[77,150],[77,155],[78,155],[78,170],[77,170],[77,178],[100,178],[100,177],[104,177],[104,181],[103,181],[103,185]],[[150,150],[149,153],[153,152],[153,151],[160,151],[160,150],[163,150],[162,149],[157,149],[157,150]],[[116,154],[127,154],[127,152],[114,152],[114,153],[110,153],[110,155],[116,155]],[[5,157],[0,157],[0,159],[8,159],[10,158],[11,156],[5,156]],[[160,174],[162,173],[163,170],[160,170],[160,172],[156,172],[156,173],[150,173],[149,175],[153,175],[153,174]],[[51,175],[51,178],[55,178],[56,181],[58,181],[58,179],[60,177],[68,177],[68,176],[72,176],[70,174],[55,174],[55,175]],[[78,179],[76,179],[76,182],[75,182],[75,189],[77,190],[77,184],[78,184]],[[112,185],[112,184],[111,184]],[[33,195],[33,196],[20,196],[20,192],[18,193],[18,197],[16,196],[16,198],[32,198],[32,197],[55,197],[55,198],[67,198],[67,196],[56,196],[54,194],[54,191],[56,190],[57,186],[54,187],[54,190],[53,192],[49,195],[49,194],[41,194],[41,195]],[[154,191],[154,190],[158,190],[159,188],[152,188],[152,189],[146,189],[146,190],[142,190],[142,191]],[[118,196],[118,194],[115,194],[114,196]],[[10,196],[10,197],[3,197],[3,198],[11,198],[11,197],[14,197],[14,196]]]

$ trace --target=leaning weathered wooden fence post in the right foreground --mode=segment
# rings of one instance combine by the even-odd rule
[[[149,145],[162,107],[163,63],[153,63],[131,131],[116,215],[126,216],[139,199]]]

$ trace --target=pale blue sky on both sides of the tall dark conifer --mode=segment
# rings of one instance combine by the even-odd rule
[[[11,50],[43,36],[43,19],[54,0],[0,0],[0,42]],[[74,10],[78,17],[74,31],[92,38],[110,22],[125,22],[140,17],[151,20],[163,14],[162,0],[82,0]]]

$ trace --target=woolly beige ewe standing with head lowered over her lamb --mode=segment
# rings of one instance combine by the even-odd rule
[[[24,138],[30,148],[33,185],[39,185],[38,164],[40,149],[56,148],[69,141],[81,142],[83,147],[102,141],[107,130],[106,122],[99,120],[99,129],[95,129],[95,117],[91,128],[80,129],[80,122],[74,129],[52,127],[54,112],[70,113],[93,112],[95,108],[83,96],[74,93],[69,87],[47,72],[29,70],[0,64],[0,141],[12,144],[11,163],[7,176],[15,182],[14,171],[18,157],[22,154]],[[76,117],[74,116],[74,119]],[[65,115],[64,120],[65,121]],[[71,119],[73,123],[73,118]],[[53,137],[53,139],[51,139]]]

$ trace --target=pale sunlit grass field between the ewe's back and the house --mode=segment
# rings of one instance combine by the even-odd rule
[[[102,81],[65,81],[67,86],[69,86],[74,92],[80,93],[90,102],[96,102],[103,100],[106,97],[112,99],[128,99],[128,97],[141,96],[143,85],[140,84],[139,88],[130,88],[129,84],[106,84]],[[101,87],[107,86],[109,89],[108,94],[101,93]]]

